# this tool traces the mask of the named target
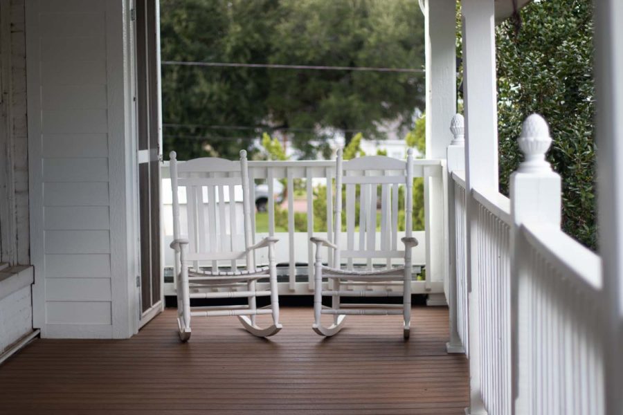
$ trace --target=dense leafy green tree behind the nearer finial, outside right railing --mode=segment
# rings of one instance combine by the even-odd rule
[[[595,248],[593,5],[538,1],[521,12],[516,34],[496,30],[500,191],[520,162],[516,139],[530,113],[541,113],[554,140],[548,160],[563,178],[563,230]]]

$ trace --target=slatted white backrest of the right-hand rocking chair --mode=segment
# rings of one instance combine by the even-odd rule
[[[376,269],[377,259],[386,259],[386,268],[392,267],[393,258],[404,257],[399,250],[398,212],[404,210],[404,229],[412,234],[413,212],[413,156],[407,160],[386,156],[366,156],[344,161],[338,154],[336,171],[336,203],[334,243],[340,247],[334,256],[333,266],[338,268],[345,259],[348,270],[365,264],[368,270]],[[346,246],[341,246],[342,190],[345,187]],[[400,197],[400,194],[404,197]],[[380,212],[379,212],[380,208]],[[380,215],[380,216],[379,216]],[[377,229],[380,228],[380,229]],[[380,230],[377,238],[377,230]],[[357,235],[357,236],[355,236]],[[345,249],[344,249],[345,248]],[[357,260],[365,260],[357,262]]]

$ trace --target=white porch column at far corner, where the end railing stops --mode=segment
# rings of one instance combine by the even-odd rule
[[[448,122],[456,112],[456,2],[424,0],[420,5],[426,18],[426,158],[446,158],[452,140]],[[442,178],[425,174],[426,282],[443,281],[447,293],[449,239],[443,185]]]

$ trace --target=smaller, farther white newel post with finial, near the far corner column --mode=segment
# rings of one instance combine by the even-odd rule
[[[453,139],[448,146],[446,160],[448,166],[448,234],[449,234],[449,270],[448,270],[448,305],[450,308],[450,341],[446,343],[448,353],[465,353],[457,327],[457,270],[456,270],[456,211],[452,172],[465,169],[464,118],[455,114],[450,122]]]

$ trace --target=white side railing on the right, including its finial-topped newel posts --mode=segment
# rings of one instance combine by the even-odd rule
[[[448,350],[469,351],[472,413],[604,414],[601,261],[560,228],[545,120],[524,123],[510,199],[470,186],[452,130]]]

